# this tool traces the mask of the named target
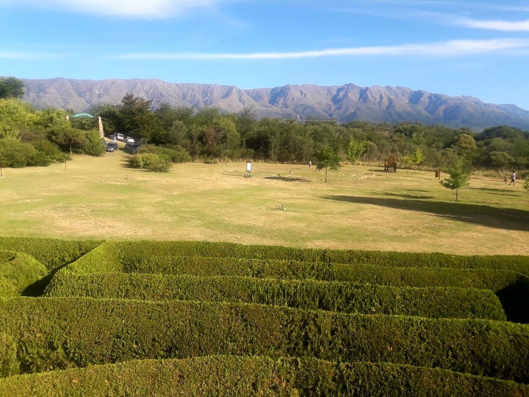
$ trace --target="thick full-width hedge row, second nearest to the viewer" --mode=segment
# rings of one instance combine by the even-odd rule
[[[529,326],[258,304],[0,299],[20,372],[212,354],[391,362],[529,382]],[[13,363],[7,363],[13,367]]]

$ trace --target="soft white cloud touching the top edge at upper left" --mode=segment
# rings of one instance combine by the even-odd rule
[[[158,19],[183,14],[191,8],[213,6],[221,0],[0,0],[0,5],[30,4],[82,14]]]

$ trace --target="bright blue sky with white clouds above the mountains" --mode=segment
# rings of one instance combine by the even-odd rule
[[[392,85],[529,110],[529,1],[0,0],[0,75]]]

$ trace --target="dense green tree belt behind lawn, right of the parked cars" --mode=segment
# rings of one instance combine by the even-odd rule
[[[143,138],[155,145],[184,148],[195,159],[253,158],[279,163],[308,163],[314,154],[332,148],[342,161],[353,150],[351,139],[363,142],[359,160],[383,162],[389,154],[402,161],[419,161],[428,167],[452,164],[463,156],[469,165],[485,168],[527,168],[529,132],[500,125],[479,134],[468,128],[451,129],[420,122],[371,123],[333,120],[300,123],[293,119],[262,118],[247,107],[222,113],[215,107],[171,107],[152,110],[152,101],[127,94],[121,104],[93,109],[102,116],[108,132]]]

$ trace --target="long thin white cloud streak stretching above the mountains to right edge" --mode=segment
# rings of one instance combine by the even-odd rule
[[[422,56],[458,56],[488,53],[502,50],[525,49],[529,39],[497,40],[451,40],[445,42],[404,44],[400,46],[374,46],[355,48],[331,48],[314,51],[296,52],[250,52],[250,53],[129,53],[112,59],[187,59],[187,60],[240,60],[240,59],[295,59],[332,56],[377,56],[377,55],[422,55]]]

